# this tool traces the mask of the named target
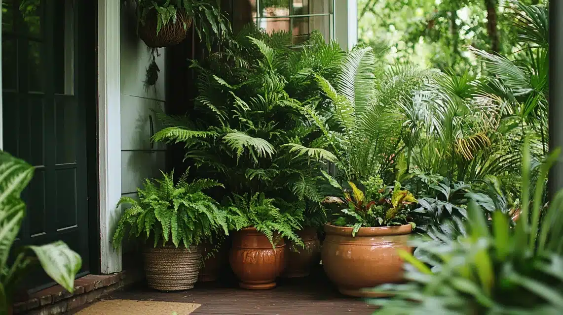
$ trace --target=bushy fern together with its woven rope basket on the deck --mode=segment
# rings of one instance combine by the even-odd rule
[[[198,179],[187,182],[188,172],[173,182],[173,172],[162,179],[145,180],[137,189],[138,200],[122,197],[118,207],[128,204],[113,237],[119,248],[126,230],[129,236],[150,240],[144,246],[145,273],[149,287],[161,291],[194,287],[202,266],[201,244],[222,231],[228,234],[225,212],[203,189],[221,186]]]

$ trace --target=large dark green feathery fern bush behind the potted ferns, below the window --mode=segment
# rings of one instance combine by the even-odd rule
[[[224,51],[193,63],[199,73],[193,111],[186,117],[161,115],[167,127],[153,139],[184,143],[186,163],[197,166],[199,176],[223,182],[225,191],[265,193],[283,212],[303,207],[310,224],[321,225],[323,163],[294,151],[324,145],[303,103],[326,111],[315,73],[336,76],[342,55],[318,33],[292,49],[291,34],[246,28]]]

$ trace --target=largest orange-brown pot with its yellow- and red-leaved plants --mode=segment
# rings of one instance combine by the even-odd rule
[[[408,244],[414,223],[410,217],[417,199],[395,182],[385,187],[378,177],[362,182],[362,190],[348,182],[343,188],[328,174],[331,184],[343,197],[327,197],[326,203],[337,204],[340,214],[325,224],[327,234],[321,259],[330,280],[345,295],[369,297],[364,287],[404,280],[403,263],[397,252],[412,252]]]

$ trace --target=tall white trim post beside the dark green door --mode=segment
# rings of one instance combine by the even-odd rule
[[[98,1],[98,153],[101,273],[123,269],[111,237],[121,197],[120,1]]]

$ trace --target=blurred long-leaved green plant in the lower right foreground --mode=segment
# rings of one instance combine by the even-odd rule
[[[548,207],[543,188],[549,167],[560,152],[543,163],[530,200],[530,149],[526,139],[522,157],[522,214],[516,226],[507,213],[493,212],[492,231],[482,209],[472,201],[468,208],[467,236],[445,245],[419,241],[427,253],[407,262],[402,285],[382,285],[376,290],[394,294],[372,300],[380,313],[413,314],[560,314],[563,312],[563,191]],[[533,205],[530,207],[529,205]],[[544,218],[542,220],[542,213]],[[427,266],[434,267],[434,271]]]

